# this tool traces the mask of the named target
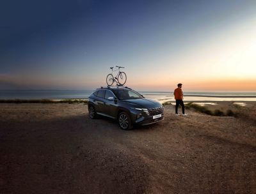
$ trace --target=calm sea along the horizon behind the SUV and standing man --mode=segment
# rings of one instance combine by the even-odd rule
[[[0,100],[38,100],[38,99],[86,99],[92,89],[28,89],[0,90]],[[167,91],[138,91],[145,98],[160,101],[175,101],[173,93]],[[256,93],[214,93],[184,92],[184,101],[256,101]]]

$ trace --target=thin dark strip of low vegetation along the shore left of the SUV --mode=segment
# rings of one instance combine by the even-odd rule
[[[87,104],[88,100],[22,100],[22,99],[14,99],[14,100],[0,100],[0,103],[84,103]]]

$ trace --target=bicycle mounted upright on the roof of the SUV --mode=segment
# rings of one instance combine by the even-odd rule
[[[113,70],[113,68],[115,68],[115,67],[118,68],[118,70]],[[110,68],[111,73],[109,73],[109,75],[107,75],[106,82],[107,82],[108,86],[112,86],[114,82],[116,82],[117,86],[124,86],[127,77],[126,77],[126,74],[124,73],[124,71],[120,71],[120,68],[124,68],[124,67],[122,67],[122,66],[115,66],[115,67]],[[118,71],[115,78],[113,76],[113,71]]]

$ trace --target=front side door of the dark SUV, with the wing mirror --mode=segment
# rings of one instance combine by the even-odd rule
[[[109,99],[109,97],[111,99]],[[104,114],[108,115],[109,117],[115,118],[117,111],[117,103],[116,97],[112,93],[112,91],[106,90],[104,102]]]

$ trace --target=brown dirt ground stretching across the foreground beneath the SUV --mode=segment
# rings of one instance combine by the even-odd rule
[[[87,109],[0,104],[0,193],[256,193],[255,117],[166,105],[164,121],[124,131]]]

